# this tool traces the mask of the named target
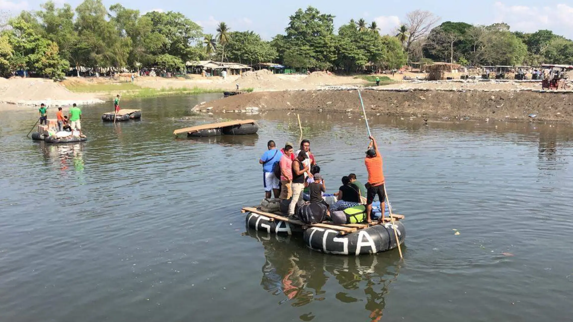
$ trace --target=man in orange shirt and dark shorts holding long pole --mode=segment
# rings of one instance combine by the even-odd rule
[[[384,171],[382,168],[382,155],[378,151],[378,144],[372,136],[368,137],[371,142],[368,144],[368,150],[366,151],[366,158],[364,159],[364,164],[366,164],[366,171],[368,171],[368,183],[365,184],[367,190],[366,197],[366,221],[372,222],[370,214],[372,213],[372,202],[376,195],[380,199],[380,209],[382,209],[382,217],[380,217],[380,222],[384,222],[384,201],[386,200],[386,194],[384,194]]]

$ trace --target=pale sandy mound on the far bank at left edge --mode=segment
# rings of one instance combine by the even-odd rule
[[[42,78],[10,79],[0,77],[0,103],[18,105],[61,106],[76,104],[101,103],[91,93],[73,93],[61,84]]]

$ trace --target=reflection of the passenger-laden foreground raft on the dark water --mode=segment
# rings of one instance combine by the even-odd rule
[[[390,283],[398,278],[399,256],[331,256],[300,247],[300,238],[278,236],[248,229],[250,237],[261,242],[265,252],[262,266],[262,288],[282,299],[278,304],[303,307],[313,301],[336,299],[339,307],[364,303],[368,317],[382,318]],[[331,281],[338,285],[325,288]],[[328,290],[327,290],[328,289]],[[357,292],[358,291],[358,292]],[[360,304],[362,305],[362,304]],[[312,313],[301,315],[312,320]]]

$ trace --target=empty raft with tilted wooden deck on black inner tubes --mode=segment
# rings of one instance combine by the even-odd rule
[[[204,137],[217,135],[249,135],[255,134],[257,131],[258,125],[254,120],[234,120],[180,128],[173,131],[173,134],[180,135],[186,133],[188,137]]]

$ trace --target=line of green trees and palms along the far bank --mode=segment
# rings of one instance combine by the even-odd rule
[[[1,18],[1,17],[0,17]],[[393,34],[382,35],[376,22],[351,19],[335,30],[334,16],[315,7],[289,17],[284,34],[270,41],[252,31],[217,34],[185,15],[127,9],[117,3],[85,0],[75,9],[48,1],[37,11],[0,19],[0,74],[29,70],[61,79],[70,68],[100,71],[159,68],[184,70],[186,61],[216,60],[242,64],[277,62],[309,70],[357,73],[393,69],[407,62],[448,61],[462,65],[571,64],[573,41],[550,30],[510,32],[505,23],[474,26],[444,22],[429,11],[407,14]]]

